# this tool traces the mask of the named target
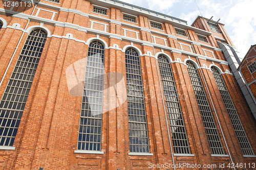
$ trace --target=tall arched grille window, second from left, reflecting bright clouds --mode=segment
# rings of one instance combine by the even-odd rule
[[[77,150],[101,151],[104,46],[91,42],[82,94]]]

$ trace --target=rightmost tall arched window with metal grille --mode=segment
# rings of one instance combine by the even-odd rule
[[[248,141],[248,138],[245,134],[244,128],[238,116],[236,108],[234,108],[233,102],[230,98],[230,95],[227,91],[226,85],[222,79],[221,74],[215,67],[211,67],[212,74],[214,75],[214,79],[217,83],[218,89],[220,90],[222,99],[224,101],[225,107],[227,109],[227,113],[231,120],[231,123],[234,128],[234,132],[238,137],[238,141],[240,143],[241,149],[244,155],[254,155],[251,149],[251,145]]]

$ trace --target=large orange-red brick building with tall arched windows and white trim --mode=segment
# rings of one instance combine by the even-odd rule
[[[28,4],[0,4],[2,169],[254,168],[222,23],[113,0]]]

